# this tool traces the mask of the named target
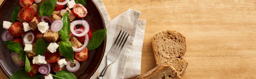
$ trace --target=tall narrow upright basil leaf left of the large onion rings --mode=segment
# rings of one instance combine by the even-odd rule
[[[58,33],[61,35],[61,39],[62,40],[67,40],[70,38],[70,19],[68,18],[69,15],[69,11],[67,11],[63,17],[62,17],[62,21],[63,21],[63,27],[61,28],[60,31],[58,31]]]

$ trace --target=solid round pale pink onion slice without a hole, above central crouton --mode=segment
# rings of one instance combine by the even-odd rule
[[[54,20],[51,25],[51,30],[53,32],[58,32],[63,27],[63,21],[62,20]]]

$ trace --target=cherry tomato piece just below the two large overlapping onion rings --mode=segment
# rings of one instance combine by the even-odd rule
[[[88,49],[85,48],[83,51],[76,52],[75,53],[75,58],[79,62],[84,62],[88,59]]]

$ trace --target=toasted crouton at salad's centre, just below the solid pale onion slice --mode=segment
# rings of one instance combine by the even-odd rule
[[[53,32],[51,29],[47,30],[44,33],[44,40],[46,42],[56,42],[59,37],[60,35],[58,34],[58,32]]]

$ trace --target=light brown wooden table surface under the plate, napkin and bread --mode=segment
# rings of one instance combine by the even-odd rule
[[[150,38],[170,29],[186,36],[189,66],[183,79],[256,79],[256,0],[103,2],[111,19],[133,8],[147,20],[142,74],[156,66]],[[0,77],[6,78],[3,72]]]

